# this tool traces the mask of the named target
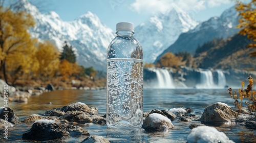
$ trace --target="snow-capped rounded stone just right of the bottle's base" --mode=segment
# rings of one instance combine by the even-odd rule
[[[142,128],[145,129],[145,131],[166,132],[169,129],[173,129],[174,125],[166,116],[158,113],[152,113],[146,117],[143,122]]]

